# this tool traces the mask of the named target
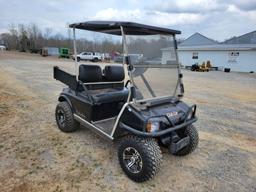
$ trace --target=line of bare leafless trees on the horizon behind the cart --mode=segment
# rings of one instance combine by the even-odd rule
[[[19,50],[22,52],[39,52],[43,47],[65,47],[73,52],[73,41],[71,39],[71,29],[67,29],[67,36],[61,33],[53,33],[51,28],[40,29],[36,24],[10,25],[7,33],[0,34],[0,43],[4,44],[8,50]],[[121,37],[120,37],[121,38]],[[120,40],[120,39],[119,39]],[[180,43],[182,40],[178,40]],[[130,53],[140,53],[148,57],[161,55],[161,48],[170,46],[170,41],[165,38],[146,40],[145,38],[129,39]],[[101,53],[122,52],[121,41],[113,39],[111,35],[99,35],[91,33],[88,38],[79,38],[76,41],[77,51],[93,51]]]

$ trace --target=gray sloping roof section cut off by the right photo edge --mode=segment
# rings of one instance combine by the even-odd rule
[[[223,42],[224,44],[256,44],[256,31],[233,37]]]

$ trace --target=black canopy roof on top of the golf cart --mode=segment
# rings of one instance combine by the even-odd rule
[[[123,21],[88,21],[83,23],[70,24],[70,28],[84,29],[89,31],[108,33],[112,35],[122,35],[121,28],[124,28],[126,35],[175,35],[181,34],[180,31],[162,27],[154,27],[133,22]]]

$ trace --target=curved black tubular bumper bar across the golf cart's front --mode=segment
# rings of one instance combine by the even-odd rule
[[[182,129],[194,122],[197,121],[197,117],[193,117],[192,119],[190,120],[187,120],[186,122],[182,123],[182,124],[179,124],[179,125],[176,125],[176,126],[173,126],[173,127],[169,127],[165,130],[162,130],[162,131],[158,131],[158,132],[153,132],[153,133],[148,133],[148,132],[143,132],[143,131],[138,131],[124,123],[119,123],[119,126],[120,128],[122,129],[125,129],[126,131],[132,133],[132,134],[135,134],[135,135],[138,135],[138,136],[143,136],[143,137],[160,137],[160,136],[163,136],[163,135],[166,135],[166,134],[169,134],[171,133],[172,131],[176,131],[178,129]]]

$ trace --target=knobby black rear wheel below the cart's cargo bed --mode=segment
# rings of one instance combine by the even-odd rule
[[[66,101],[57,105],[55,118],[59,129],[63,132],[74,132],[79,128],[79,123],[74,119],[71,107]]]

